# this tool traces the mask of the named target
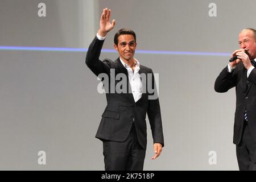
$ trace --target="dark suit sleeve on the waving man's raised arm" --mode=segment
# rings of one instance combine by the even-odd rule
[[[86,54],[85,64],[96,76],[100,73],[109,73],[110,70],[109,60],[101,61],[99,59],[103,43],[104,40],[98,40],[95,36]]]

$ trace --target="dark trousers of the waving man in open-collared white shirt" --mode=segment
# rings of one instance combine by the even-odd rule
[[[106,171],[142,171],[146,150],[139,144],[133,125],[125,141],[105,140],[103,154]]]

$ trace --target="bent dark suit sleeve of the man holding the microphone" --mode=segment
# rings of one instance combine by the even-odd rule
[[[216,78],[214,90],[216,92],[227,92],[229,89],[236,86],[237,83],[237,67],[231,73],[228,72],[228,67],[225,67],[220,75]]]

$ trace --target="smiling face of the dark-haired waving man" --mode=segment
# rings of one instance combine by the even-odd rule
[[[119,52],[122,60],[133,60],[137,43],[133,35],[119,35],[118,44],[114,45],[115,50]]]

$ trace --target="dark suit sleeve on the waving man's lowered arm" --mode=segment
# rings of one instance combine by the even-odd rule
[[[152,81],[152,86],[154,86],[153,87],[154,92],[148,94],[147,115],[148,115],[148,120],[150,122],[154,143],[161,143],[162,146],[164,146],[160,104],[159,104],[158,92],[155,86],[155,78],[152,70],[151,70],[151,74],[152,74],[152,79],[150,81]],[[150,97],[153,95],[154,97]]]

